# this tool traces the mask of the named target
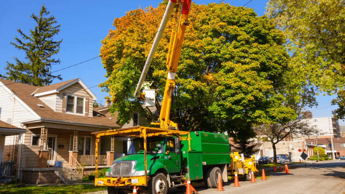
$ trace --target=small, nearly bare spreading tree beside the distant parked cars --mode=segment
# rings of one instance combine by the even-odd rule
[[[309,126],[307,120],[302,119],[300,116],[290,122],[259,125],[255,127],[255,131],[265,136],[262,140],[272,143],[274,163],[277,163],[276,144],[284,138],[289,136],[312,136],[318,133],[318,129]]]

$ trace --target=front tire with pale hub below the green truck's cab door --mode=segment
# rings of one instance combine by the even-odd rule
[[[167,177],[163,173],[158,173],[148,182],[147,190],[149,194],[167,194],[168,187]]]

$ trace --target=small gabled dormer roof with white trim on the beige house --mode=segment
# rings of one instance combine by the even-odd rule
[[[92,96],[93,100],[96,100],[97,97],[95,96],[95,94],[92,93],[92,91],[86,87],[86,85],[79,79],[71,79],[68,81],[63,81],[57,84],[52,84],[49,86],[43,86],[43,87],[39,87],[37,88],[35,91],[33,91],[31,93],[31,95],[34,95],[36,97],[38,96],[43,96],[43,95],[48,95],[48,94],[53,94],[53,93],[57,93],[62,89],[67,88],[68,86],[71,86],[73,84],[79,83],[81,85],[81,87],[90,95]]]

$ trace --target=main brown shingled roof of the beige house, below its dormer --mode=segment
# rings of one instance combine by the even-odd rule
[[[75,123],[76,125],[91,124],[91,125],[102,125],[111,127],[120,127],[115,119],[109,119],[109,117],[89,117],[82,115],[73,115],[67,113],[59,113],[51,109],[48,105],[43,103],[38,97],[31,95],[38,87],[27,84],[22,84],[14,81],[0,79],[0,86],[8,88],[8,91],[14,92],[16,99],[23,102],[27,106],[28,110],[36,116],[37,119],[51,119],[60,120],[69,123]],[[44,108],[39,107],[37,104],[41,104]],[[79,123],[79,124],[78,124]]]

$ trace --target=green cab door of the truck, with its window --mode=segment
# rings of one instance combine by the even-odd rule
[[[169,158],[170,156],[170,158]],[[176,155],[174,139],[168,139],[164,150],[164,165],[168,173],[177,173],[181,169],[180,155]]]

